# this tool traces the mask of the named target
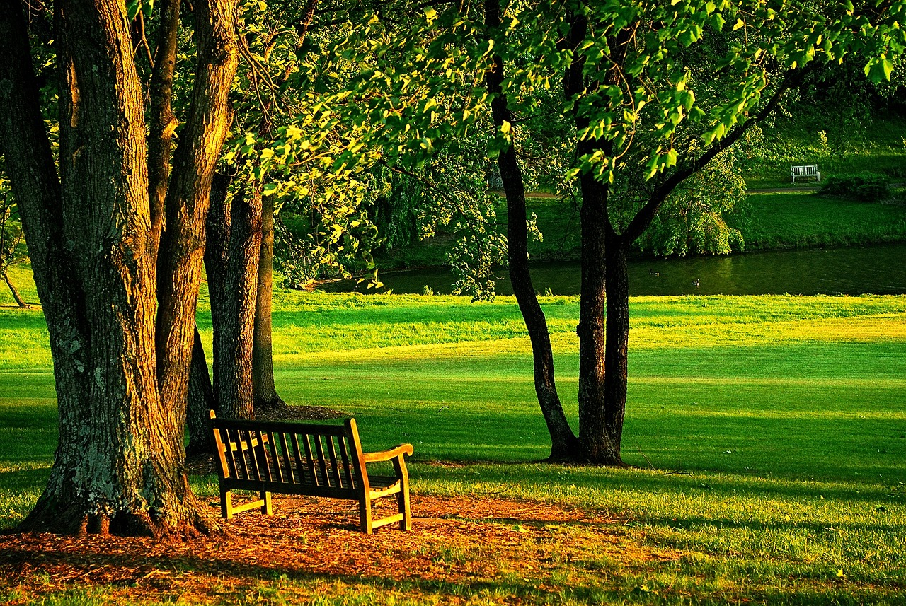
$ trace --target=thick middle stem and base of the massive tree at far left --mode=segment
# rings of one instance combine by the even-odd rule
[[[63,321],[81,320],[82,338],[53,347],[63,352],[54,356],[60,447],[24,529],[161,534],[191,531],[200,523],[178,448],[182,431],[159,398],[154,374],[155,268],[148,254],[144,117],[119,8],[61,3],[56,14],[64,160],[62,213],[54,220],[62,219],[69,249],[61,256],[74,260],[71,279],[83,285],[82,317]],[[6,17],[13,11],[21,16],[18,6],[2,12]],[[3,37],[24,32],[21,24],[21,33]],[[30,66],[24,41],[16,46],[7,61]],[[36,94],[29,100],[39,108]],[[40,147],[33,151],[43,155]],[[14,150],[6,147],[5,155]],[[44,173],[43,179],[56,176]],[[31,219],[24,216],[26,223]],[[30,244],[47,240],[42,227],[39,222],[27,228]],[[53,300],[63,293],[47,294]],[[62,360],[56,368],[67,347],[80,350],[75,368]],[[76,390],[81,396],[72,397]]]

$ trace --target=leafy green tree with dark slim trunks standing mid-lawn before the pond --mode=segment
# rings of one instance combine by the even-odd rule
[[[539,101],[549,97],[546,91],[562,91],[559,107],[544,118],[572,123],[563,182],[581,200],[579,439],[573,456],[622,465],[631,247],[680,185],[766,119],[814,65],[859,53],[872,79],[889,77],[903,50],[906,6],[887,0],[569,0],[512,2],[502,11],[486,2],[483,8],[475,14],[472,5],[442,13],[425,7],[420,23],[377,45],[375,32],[392,28],[381,30],[376,16],[364,30],[370,44],[347,45],[383,58],[362,71],[356,92],[372,118],[373,136],[397,142],[390,160],[403,149],[421,154],[419,147],[440,147],[444,137],[474,136],[476,116],[485,115],[489,103],[497,136],[488,150],[504,176],[515,227],[525,225],[515,134],[527,117],[548,110]],[[475,92],[479,74],[487,75],[484,98]],[[419,92],[425,100],[400,107]],[[518,268],[525,255],[522,236],[510,236],[511,263]],[[515,281],[528,283],[521,271]],[[545,371],[545,328],[530,298],[517,295],[536,373],[540,367],[542,377],[553,377]],[[547,419],[556,410],[549,403],[555,392],[552,380],[542,381],[539,400],[546,401]],[[552,430],[554,450],[568,450],[569,434],[559,425]]]

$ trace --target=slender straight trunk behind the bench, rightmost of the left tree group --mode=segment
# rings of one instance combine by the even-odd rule
[[[274,198],[262,197],[261,254],[255,299],[255,335],[252,343],[252,389],[255,410],[286,406],[274,383],[274,351],[271,339],[271,301],[274,297]]]

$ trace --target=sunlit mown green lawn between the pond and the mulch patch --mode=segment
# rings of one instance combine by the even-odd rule
[[[577,299],[542,300],[574,423]],[[56,412],[40,311],[0,302],[8,528],[47,478]],[[596,551],[593,529],[564,526],[564,545],[588,552],[578,567],[564,555],[550,580],[561,603],[901,603],[906,297],[634,298],[631,313],[623,454],[633,469],[532,462],[549,442],[513,298],[280,292],[276,379],[287,402],[355,415],[366,449],[412,442],[417,494],[585,507],[620,520],[627,544],[681,554],[614,560]],[[207,314],[199,323],[209,338]],[[194,481],[216,495],[212,478]],[[469,557],[477,555],[456,555]],[[570,589],[580,581],[591,583],[587,592]],[[502,587],[491,598],[454,593],[502,603]],[[371,585],[354,592],[390,603]],[[102,601],[101,592],[84,603]]]

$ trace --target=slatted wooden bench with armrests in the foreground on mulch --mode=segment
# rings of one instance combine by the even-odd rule
[[[210,412],[220,476],[220,513],[234,514],[261,507],[273,514],[271,493],[346,498],[359,501],[362,531],[400,523],[411,530],[409,472],[404,455],[411,444],[381,452],[362,452],[354,419],[342,425],[238,421],[218,419]],[[369,475],[366,464],[390,461],[392,476]],[[254,490],[261,498],[235,507],[231,490]],[[371,516],[371,501],[397,496],[399,513],[381,519]]]

